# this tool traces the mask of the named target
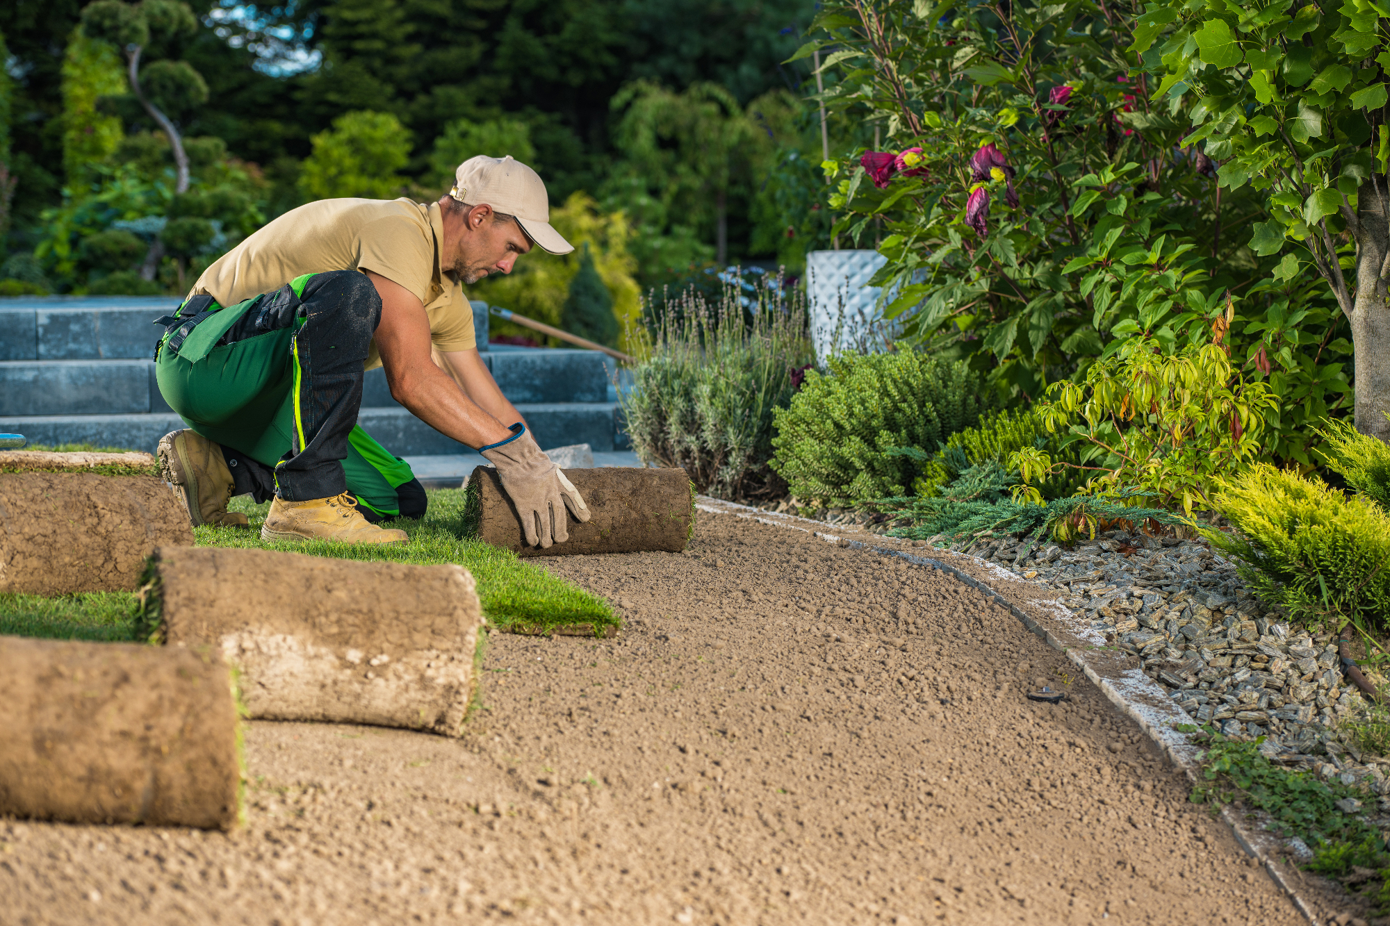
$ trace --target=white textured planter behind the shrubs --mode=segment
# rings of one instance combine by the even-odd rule
[[[880,352],[898,335],[883,320],[878,286],[866,285],[887,263],[876,250],[813,250],[806,254],[806,296],[816,356],[835,350]]]

